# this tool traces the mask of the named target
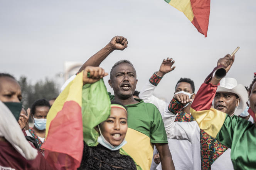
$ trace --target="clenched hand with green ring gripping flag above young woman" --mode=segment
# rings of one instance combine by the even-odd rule
[[[83,84],[95,83],[96,81],[98,81],[99,79],[107,75],[108,73],[105,73],[103,68],[87,66],[84,69],[84,73],[83,73]]]

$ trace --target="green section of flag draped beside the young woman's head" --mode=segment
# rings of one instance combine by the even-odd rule
[[[88,146],[96,146],[99,133],[94,127],[108,119],[111,102],[103,79],[93,84],[85,84],[82,93],[84,142]]]

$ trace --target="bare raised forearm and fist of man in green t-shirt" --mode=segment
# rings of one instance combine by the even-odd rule
[[[112,53],[114,50],[125,50],[127,47],[128,41],[123,36],[115,36],[112,40],[101,50],[99,50],[96,54],[91,56],[79,69],[79,72],[84,70],[86,66],[94,66],[98,67],[101,62],[107,58],[107,56]]]

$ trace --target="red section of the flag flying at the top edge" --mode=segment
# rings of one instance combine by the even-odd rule
[[[206,37],[210,16],[210,0],[190,0],[190,2],[195,16],[192,24]]]

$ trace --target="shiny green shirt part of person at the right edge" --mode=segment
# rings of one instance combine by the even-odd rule
[[[227,115],[216,140],[231,148],[231,160],[234,169],[255,170],[255,124],[237,116],[230,117]]]

